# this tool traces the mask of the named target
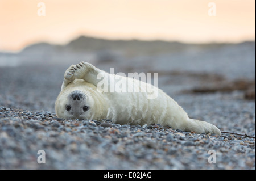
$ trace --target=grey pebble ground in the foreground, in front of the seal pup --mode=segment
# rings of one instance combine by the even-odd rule
[[[0,107],[0,169],[255,169],[255,138]],[[46,163],[38,163],[39,150]],[[216,163],[209,163],[216,153]]]

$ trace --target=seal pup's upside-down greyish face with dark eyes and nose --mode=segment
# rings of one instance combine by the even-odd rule
[[[63,92],[56,100],[56,114],[63,119],[87,119],[90,117],[91,102],[80,90],[74,90],[69,94]]]

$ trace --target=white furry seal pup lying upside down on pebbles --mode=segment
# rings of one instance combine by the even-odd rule
[[[108,79],[118,76],[97,69],[87,62],[71,65],[65,71],[61,92],[55,102],[55,111],[58,117],[63,119],[110,119],[117,124],[159,123],[188,132],[221,135],[215,125],[190,119],[174,99],[157,87],[150,85],[154,92],[158,92],[155,99],[148,99],[152,90],[151,92],[129,93],[122,90],[121,87],[119,92],[106,92],[97,89],[98,83],[102,81],[97,79],[98,75]],[[149,86],[148,83],[137,79],[119,78],[119,81],[124,81],[123,83],[134,83],[135,86],[139,86],[139,89]],[[114,83],[116,84],[117,81]]]

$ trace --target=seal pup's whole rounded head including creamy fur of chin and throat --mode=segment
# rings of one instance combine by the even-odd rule
[[[105,119],[108,101],[91,83],[75,79],[61,90],[55,102],[55,111],[62,119]]]

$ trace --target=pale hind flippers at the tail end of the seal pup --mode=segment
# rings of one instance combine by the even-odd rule
[[[220,129],[218,129],[215,125],[207,123],[205,121],[199,121],[196,119],[187,119],[187,125],[185,131],[194,131],[196,133],[212,133],[221,135]]]

